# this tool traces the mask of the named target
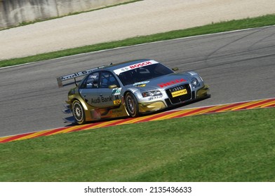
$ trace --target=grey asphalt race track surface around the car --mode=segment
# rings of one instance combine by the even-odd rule
[[[0,137],[69,125],[61,110],[70,86],[56,77],[139,58],[201,74],[212,97],[185,109],[275,97],[274,26],[182,38],[0,69]]]

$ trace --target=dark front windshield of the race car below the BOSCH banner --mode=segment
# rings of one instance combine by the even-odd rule
[[[118,76],[123,85],[130,85],[159,76],[164,76],[169,73],[173,73],[173,71],[163,64],[158,63],[124,71],[119,73]]]

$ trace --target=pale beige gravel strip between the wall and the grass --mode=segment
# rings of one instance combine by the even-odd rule
[[[274,0],[135,1],[0,31],[0,59],[254,18],[274,8]]]

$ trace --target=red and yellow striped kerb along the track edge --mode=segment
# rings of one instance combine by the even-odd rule
[[[68,133],[68,132],[77,132],[82,130],[91,130],[101,127],[110,127],[115,125],[126,125],[130,123],[142,123],[151,120],[164,120],[170,118],[182,118],[185,116],[195,116],[207,113],[220,113],[225,111],[240,111],[247,109],[261,109],[261,108],[274,108],[275,107],[275,98],[271,99],[260,99],[250,102],[238,102],[233,104],[222,104],[216,106],[206,106],[202,108],[194,109],[182,109],[178,111],[166,111],[163,113],[156,113],[153,115],[142,116],[138,118],[126,118],[120,120],[109,120],[106,122],[96,122],[90,123],[87,125],[76,125],[71,127],[60,127],[53,130],[43,130],[39,132],[31,132],[26,134],[18,134],[8,137],[0,137],[0,143],[6,143],[9,141],[18,141],[23,139],[31,139],[41,136],[49,136],[53,134]]]

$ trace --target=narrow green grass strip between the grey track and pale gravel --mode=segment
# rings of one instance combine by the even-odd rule
[[[65,57],[69,55],[76,55],[86,52],[94,52],[98,50],[105,50],[110,48],[118,48],[128,45],[136,45],[140,43],[150,43],[154,41],[163,41],[173,38],[183,38],[188,36],[197,36],[201,34],[213,34],[217,32],[232,31],[237,29],[247,29],[253,27],[265,27],[268,25],[275,25],[275,15],[264,15],[257,18],[246,18],[243,20],[232,20],[228,22],[218,22],[203,27],[194,27],[190,29],[182,29],[177,31],[169,31],[161,34],[153,34],[149,36],[137,36],[127,38],[121,41],[112,41],[108,43],[100,43],[95,45],[86,45],[79,48],[72,48],[56,52],[48,52],[40,55],[30,57],[6,59],[0,61],[0,67],[13,66],[16,64],[25,64],[29,62],[37,62],[46,59],[54,59],[58,57]]]

